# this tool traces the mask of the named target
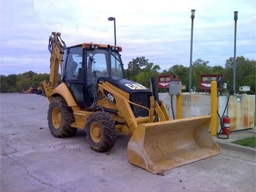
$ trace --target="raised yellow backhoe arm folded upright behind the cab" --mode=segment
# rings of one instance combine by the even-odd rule
[[[52,32],[49,38],[48,50],[51,53],[50,58],[50,80],[41,83],[42,91],[45,97],[50,97],[52,91],[58,86],[59,67],[62,67],[63,49],[66,48],[65,42],[62,41],[60,33]]]

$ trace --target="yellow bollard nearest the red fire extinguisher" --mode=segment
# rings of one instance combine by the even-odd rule
[[[211,135],[217,135],[217,82],[211,82]]]

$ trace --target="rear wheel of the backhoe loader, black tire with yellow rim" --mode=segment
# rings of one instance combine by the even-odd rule
[[[48,125],[54,137],[65,138],[73,136],[77,128],[71,127],[75,121],[73,111],[62,97],[55,97],[48,109]]]

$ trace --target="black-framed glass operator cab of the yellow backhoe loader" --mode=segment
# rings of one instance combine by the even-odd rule
[[[66,83],[79,106],[92,106],[98,78],[124,78],[119,51],[122,51],[119,46],[92,43],[64,50],[61,81]]]

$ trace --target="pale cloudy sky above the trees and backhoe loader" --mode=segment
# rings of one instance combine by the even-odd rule
[[[86,1],[1,0],[0,74],[50,73],[51,33],[67,46],[122,46],[124,68],[137,57],[168,70],[190,65],[191,10],[195,10],[192,61],[225,67],[236,56],[256,60],[256,0]]]

